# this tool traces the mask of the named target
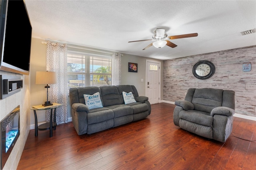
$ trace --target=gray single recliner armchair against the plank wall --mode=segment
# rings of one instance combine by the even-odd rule
[[[185,100],[175,101],[175,105],[174,125],[220,142],[230,136],[235,113],[234,91],[190,88]]]

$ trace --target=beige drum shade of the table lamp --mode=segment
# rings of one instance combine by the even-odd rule
[[[36,71],[36,84],[56,84],[57,73],[52,71]]]

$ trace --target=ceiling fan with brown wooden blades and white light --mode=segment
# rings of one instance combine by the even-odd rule
[[[156,28],[156,30],[154,31],[154,35],[152,36],[153,39],[138,40],[138,41],[131,41],[131,42],[155,41],[153,43],[150,43],[144,49],[147,49],[147,48],[151,47],[152,45],[154,45],[154,47],[159,48],[159,49],[164,47],[165,45],[168,45],[169,47],[174,48],[174,47],[177,47],[177,45],[170,42],[169,39],[174,40],[174,39],[179,39],[179,38],[189,38],[189,37],[197,37],[197,36],[198,36],[197,33],[182,34],[182,35],[177,35],[177,36],[167,36],[164,28]],[[130,43],[130,42],[128,42],[128,43]],[[142,50],[144,50],[144,49],[142,49]]]

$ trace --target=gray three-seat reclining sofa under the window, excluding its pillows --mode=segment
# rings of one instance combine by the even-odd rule
[[[122,92],[132,92],[136,103],[124,104]],[[84,94],[100,93],[102,106],[88,109]],[[78,135],[92,134],[148,117],[151,105],[148,97],[138,96],[133,85],[73,87],[69,90],[72,123]]]

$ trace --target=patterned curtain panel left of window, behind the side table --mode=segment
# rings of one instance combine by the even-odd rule
[[[48,41],[46,43],[46,70],[57,72],[58,83],[50,85],[49,99],[52,103],[61,103],[56,109],[56,123],[68,123],[68,76],[66,44]],[[53,119],[52,119],[53,120]],[[46,111],[46,122],[50,121],[50,110]]]

